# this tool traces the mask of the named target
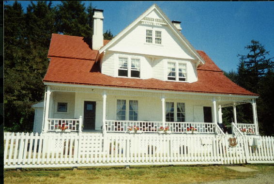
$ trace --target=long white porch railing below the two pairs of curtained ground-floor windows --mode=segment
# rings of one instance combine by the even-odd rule
[[[214,123],[193,123],[193,122],[149,122],[149,121],[115,121],[106,120],[105,123],[107,132],[127,132],[128,127],[139,127],[139,130],[144,133],[156,133],[163,126],[169,127],[172,133],[187,132],[187,128],[194,127],[198,133],[213,134],[215,133]]]

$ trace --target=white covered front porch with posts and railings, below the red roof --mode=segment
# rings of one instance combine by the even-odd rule
[[[168,127],[168,133],[224,135],[222,108],[232,106],[232,134],[259,135],[254,96],[52,84],[45,92],[43,132],[64,125],[79,133],[160,133]],[[253,124],[237,122],[236,106],[244,103],[252,105]]]

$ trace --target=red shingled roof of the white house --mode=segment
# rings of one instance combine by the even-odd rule
[[[61,43],[66,43],[66,45]],[[78,45],[75,46],[77,43]],[[59,47],[56,47],[57,45]],[[76,47],[79,52],[71,49]],[[180,92],[257,95],[229,80],[204,51],[198,51],[198,53],[206,64],[198,67],[198,81],[193,83],[162,81],[155,78],[135,79],[107,76],[100,72],[99,63],[95,63],[95,52],[97,53],[97,50],[87,47],[83,37],[53,34],[48,54],[51,61],[43,81]]]

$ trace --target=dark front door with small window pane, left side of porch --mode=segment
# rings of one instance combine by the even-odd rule
[[[84,102],[84,128],[83,130],[95,130],[96,102]]]

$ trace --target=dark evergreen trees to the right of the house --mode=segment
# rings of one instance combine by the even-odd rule
[[[244,47],[248,53],[238,54],[237,71],[225,72],[225,75],[250,92],[259,94],[256,99],[259,133],[274,136],[274,62],[269,58],[269,52],[259,41],[251,40]],[[238,105],[237,122],[253,123],[253,113],[250,104]],[[230,124],[233,117],[232,107],[223,110],[223,123]]]

